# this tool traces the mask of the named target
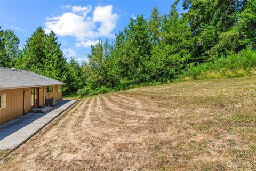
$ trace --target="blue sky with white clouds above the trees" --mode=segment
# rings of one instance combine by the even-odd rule
[[[161,14],[168,13],[174,1],[0,1],[0,25],[12,29],[21,46],[38,26],[53,30],[67,59],[87,59],[90,45],[99,38],[113,39],[130,18],[143,14],[150,17],[156,6]],[[182,10],[178,5],[179,13]]]

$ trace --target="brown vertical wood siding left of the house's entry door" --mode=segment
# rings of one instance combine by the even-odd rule
[[[1,90],[6,94],[6,108],[0,109],[0,124],[15,119],[23,114],[23,91],[29,88]],[[25,92],[25,112],[31,108],[31,91]]]

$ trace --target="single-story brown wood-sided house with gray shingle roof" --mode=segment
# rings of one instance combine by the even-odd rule
[[[0,67],[0,124],[46,105],[48,98],[61,100],[64,84],[34,72]]]

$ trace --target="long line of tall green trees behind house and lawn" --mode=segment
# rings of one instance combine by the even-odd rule
[[[56,34],[38,27],[19,48],[12,30],[0,29],[0,65],[43,74],[67,83],[65,93],[92,95],[133,85],[166,82],[200,63],[256,47],[256,1],[175,1],[167,14],[157,7],[147,20],[130,19],[113,41],[91,46],[89,62],[69,62]]]

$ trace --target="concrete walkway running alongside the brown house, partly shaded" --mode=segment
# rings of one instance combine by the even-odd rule
[[[46,113],[28,113],[0,126],[0,150],[13,150],[35,135],[77,100],[61,100]]]

